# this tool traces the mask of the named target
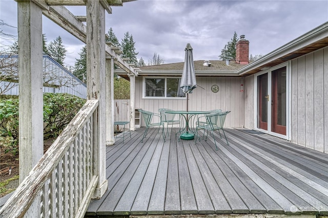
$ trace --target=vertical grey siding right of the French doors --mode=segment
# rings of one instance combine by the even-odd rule
[[[291,141],[328,153],[328,47],[291,66]]]

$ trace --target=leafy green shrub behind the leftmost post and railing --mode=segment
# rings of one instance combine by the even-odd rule
[[[57,137],[86,100],[67,93],[44,94],[44,138]],[[18,99],[0,99],[0,137],[18,152]]]

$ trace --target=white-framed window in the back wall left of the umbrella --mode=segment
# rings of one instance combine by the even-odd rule
[[[180,78],[145,78],[146,98],[185,98]]]

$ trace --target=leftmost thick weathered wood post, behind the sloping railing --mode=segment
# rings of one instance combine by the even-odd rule
[[[17,1],[19,183],[43,156],[42,9],[32,1]],[[36,217],[37,198],[25,214]]]

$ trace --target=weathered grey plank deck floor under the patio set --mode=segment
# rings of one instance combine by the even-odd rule
[[[218,151],[157,129],[139,142],[144,130],[107,147],[108,190],[88,217],[328,214],[328,154],[246,129],[226,129],[229,146],[216,135]]]

